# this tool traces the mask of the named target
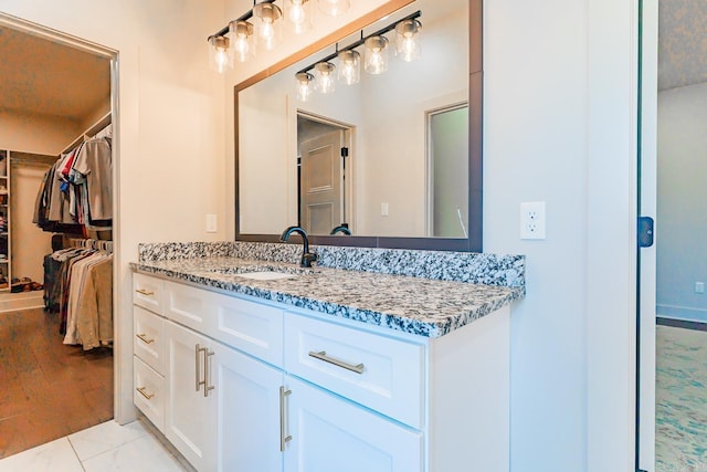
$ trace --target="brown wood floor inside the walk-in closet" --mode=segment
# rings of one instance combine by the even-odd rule
[[[0,313],[0,458],[113,418],[113,352],[66,346],[56,314]]]

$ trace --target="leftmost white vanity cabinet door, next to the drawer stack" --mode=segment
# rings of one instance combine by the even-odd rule
[[[165,322],[167,408],[165,436],[200,471],[212,471],[215,458],[215,396],[204,396],[210,342],[191,329]],[[205,349],[205,352],[204,352]],[[209,357],[209,356],[208,356]]]

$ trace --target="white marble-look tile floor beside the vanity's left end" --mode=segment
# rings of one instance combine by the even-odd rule
[[[183,461],[183,459],[182,459]],[[140,421],[110,420],[0,460],[0,472],[190,471]]]

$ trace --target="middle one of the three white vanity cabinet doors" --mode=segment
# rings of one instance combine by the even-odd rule
[[[217,470],[281,472],[282,371],[219,343],[212,348]]]

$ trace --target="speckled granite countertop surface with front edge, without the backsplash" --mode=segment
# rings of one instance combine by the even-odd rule
[[[426,337],[440,337],[525,295],[498,286],[234,256],[141,260],[138,272],[162,275]],[[241,272],[296,276],[252,280]]]

